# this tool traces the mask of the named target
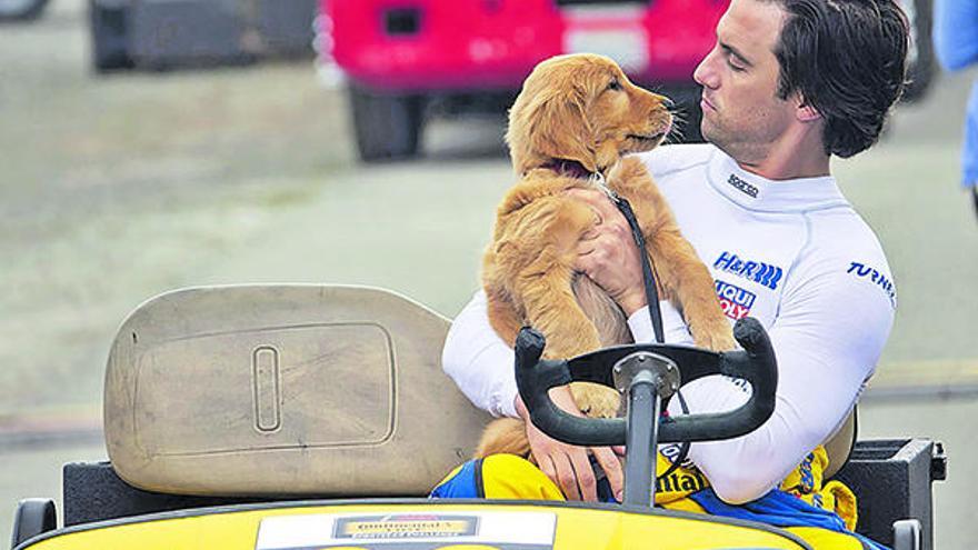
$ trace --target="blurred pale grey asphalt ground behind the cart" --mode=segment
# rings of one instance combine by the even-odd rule
[[[151,296],[358,283],[451,316],[477,287],[512,182],[501,118],[436,122],[423,159],[362,168],[345,98],[311,62],[98,78],[83,2],[50,8],[0,27],[0,511],[57,496],[61,463],[104,457],[108,348]],[[860,431],[946,443],[941,549],[978,531],[978,223],[956,182],[975,76],[940,78],[879,146],[834,167],[898,287]],[[8,529],[0,519],[0,540]]]

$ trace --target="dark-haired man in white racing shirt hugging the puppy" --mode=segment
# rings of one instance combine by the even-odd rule
[[[768,330],[780,380],[774,416],[689,458],[725,502],[768,493],[841,424],[871,376],[896,298],[882,250],[830,176],[878,138],[905,78],[907,21],[892,0],[732,0],[717,43],[696,70],[710,144],[643,154],[685,237],[710,268],[734,319]],[[578,268],[650,341],[639,256],[623,218],[600,193],[576,192],[603,221],[579,246]],[[666,340],[689,342],[662,303]],[[489,326],[485,296],[458,316],[445,370],[479,407],[527,419],[512,351]],[[682,388],[690,412],[727,410],[746,390],[719,377]],[[576,411],[569,391],[555,397]],[[672,411],[678,412],[678,411]],[[560,443],[527,422],[540,470],[570,499],[595,500],[591,452],[621,492],[609,449]]]

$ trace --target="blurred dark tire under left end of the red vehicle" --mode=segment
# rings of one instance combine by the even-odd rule
[[[423,127],[425,98],[377,93],[351,84],[350,107],[363,162],[415,157]]]

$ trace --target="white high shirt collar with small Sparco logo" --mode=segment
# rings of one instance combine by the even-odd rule
[[[797,212],[848,204],[831,176],[769,180],[744,170],[719,149],[713,151],[708,173],[713,189],[749,210]]]

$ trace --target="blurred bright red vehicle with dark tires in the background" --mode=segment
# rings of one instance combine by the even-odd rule
[[[927,3],[928,47],[929,1],[916,0]],[[416,154],[432,106],[503,112],[538,62],[571,52],[603,53],[636,83],[669,96],[685,111],[686,139],[698,139],[692,72],[729,0],[320,2],[320,62],[349,81],[357,144],[369,162]]]

